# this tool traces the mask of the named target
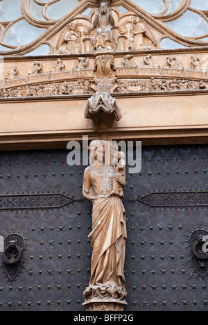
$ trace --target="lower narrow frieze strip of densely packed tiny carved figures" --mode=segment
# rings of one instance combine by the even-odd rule
[[[0,91],[0,99],[21,97],[54,97],[94,94],[96,81],[94,79],[80,79],[78,81],[64,81],[44,83],[37,85],[24,85],[17,88],[7,88]],[[189,81],[188,79],[164,79],[164,78],[118,78],[114,83],[114,92],[173,92],[186,90],[208,90],[208,82]]]

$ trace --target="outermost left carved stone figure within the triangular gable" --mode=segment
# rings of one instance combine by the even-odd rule
[[[78,24],[71,23],[67,27],[68,31],[63,32],[60,42],[58,44],[59,53],[77,54],[81,52],[80,47],[80,31],[78,31]],[[62,44],[67,43],[67,48],[62,49]]]

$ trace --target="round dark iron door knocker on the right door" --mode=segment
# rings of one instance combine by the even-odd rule
[[[191,233],[189,238],[193,255],[200,260],[208,258],[208,231],[198,229]]]

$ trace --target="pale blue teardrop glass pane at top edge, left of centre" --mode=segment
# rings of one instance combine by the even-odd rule
[[[80,4],[79,0],[60,0],[58,2],[51,3],[51,5],[49,5],[49,7],[46,9],[46,16],[49,19],[60,19],[78,4]]]

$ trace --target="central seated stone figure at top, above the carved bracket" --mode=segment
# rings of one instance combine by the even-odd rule
[[[94,46],[96,50],[116,49],[116,42],[112,28],[115,26],[112,10],[108,3],[101,2],[99,10],[95,12],[93,27],[96,29],[94,35]]]

